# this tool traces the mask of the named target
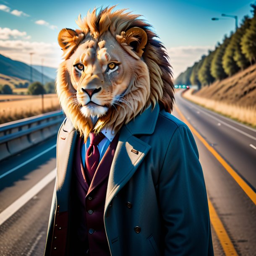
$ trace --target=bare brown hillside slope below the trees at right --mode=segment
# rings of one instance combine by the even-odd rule
[[[234,76],[204,86],[193,95],[242,107],[256,106],[256,64]]]

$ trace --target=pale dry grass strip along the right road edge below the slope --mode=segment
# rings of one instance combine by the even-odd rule
[[[183,97],[210,110],[256,128],[256,105],[244,107],[239,104],[231,104],[199,97],[193,94],[193,89],[185,91]]]

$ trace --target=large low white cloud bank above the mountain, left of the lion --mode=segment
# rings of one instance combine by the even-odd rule
[[[30,52],[33,52],[33,64],[57,67],[62,61],[62,51],[57,43],[29,42],[23,40],[0,40],[1,54],[14,60],[30,64]]]

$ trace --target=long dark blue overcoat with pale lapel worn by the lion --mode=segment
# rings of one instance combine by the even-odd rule
[[[56,205],[68,210],[77,133],[66,119],[57,139],[57,178],[45,255]],[[188,126],[148,108],[120,130],[104,209],[112,256],[213,256],[204,176]]]

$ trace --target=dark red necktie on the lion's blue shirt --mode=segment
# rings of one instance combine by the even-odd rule
[[[87,149],[85,154],[85,165],[88,171],[89,179],[92,180],[94,173],[99,165],[99,149],[98,144],[105,137],[103,133],[98,133],[97,135],[93,132],[90,132],[90,146]]]

